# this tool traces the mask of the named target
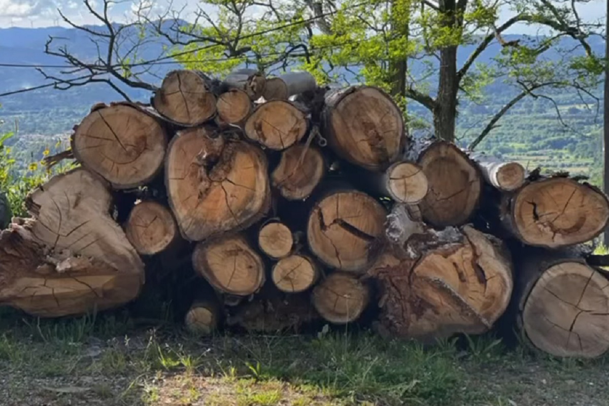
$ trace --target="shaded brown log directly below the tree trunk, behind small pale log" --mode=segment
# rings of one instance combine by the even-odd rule
[[[481,196],[482,178],[476,164],[445,141],[427,147],[418,164],[429,182],[429,191],[420,203],[424,220],[438,227],[465,224]]]

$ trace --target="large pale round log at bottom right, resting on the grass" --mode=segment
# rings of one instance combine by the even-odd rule
[[[609,280],[574,250],[524,248],[514,300],[525,343],[557,357],[594,358],[609,350]]]

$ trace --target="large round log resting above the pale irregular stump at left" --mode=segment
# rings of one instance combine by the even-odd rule
[[[115,189],[152,180],[161,170],[167,135],[150,114],[132,105],[96,105],[76,127],[74,157]]]

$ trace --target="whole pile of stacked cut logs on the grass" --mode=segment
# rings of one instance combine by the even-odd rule
[[[181,317],[201,334],[368,317],[380,334],[430,340],[513,312],[543,351],[609,349],[609,278],[585,245],[607,226],[607,197],[410,139],[381,89],[173,71],[150,105],[94,106],[71,150],[81,166],[2,231],[2,304],[113,309],[138,298],[147,265],[186,251],[174,262],[203,287]]]

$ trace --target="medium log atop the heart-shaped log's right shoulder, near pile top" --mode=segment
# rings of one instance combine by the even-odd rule
[[[272,150],[284,150],[305,136],[308,119],[304,111],[284,100],[258,105],[245,121],[247,138]]]

